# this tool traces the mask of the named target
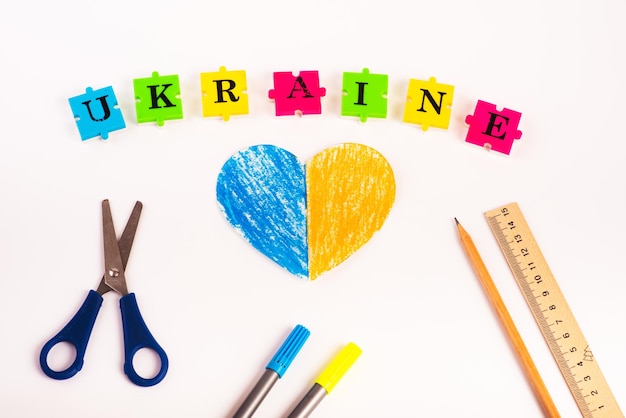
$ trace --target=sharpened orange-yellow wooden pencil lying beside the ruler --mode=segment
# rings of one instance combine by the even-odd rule
[[[533,362],[533,359],[530,356],[530,353],[528,352],[528,349],[526,348],[526,345],[524,344],[521,335],[517,331],[515,323],[513,323],[513,319],[511,318],[509,311],[506,309],[504,301],[500,297],[500,293],[493,283],[493,280],[489,275],[489,272],[487,271],[487,267],[485,267],[485,263],[483,263],[483,260],[480,257],[480,254],[478,253],[478,250],[476,249],[472,238],[461,226],[459,221],[456,218],[454,218],[454,220],[456,222],[456,227],[459,231],[459,238],[461,240],[461,244],[463,245],[463,249],[470,259],[472,267],[474,268],[476,275],[480,279],[483,289],[485,290],[485,293],[487,293],[487,297],[489,298],[493,309],[496,311],[496,315],[502,323],[502,326],[507,333],[511,345],[515,349],[518,359],[523,366],[526,378],[529,380],[529,383],[541,405],[541,408],[543,409],[546,416],[549,418],[560,417],[559,412],[557,411],[556,406],[554,405],[554,402],[550,397],[550,393],[548,393],[548,389],[543,383],[543,380],[539,375],[539,371],[537,370],[537,367],[535,366],[535,363]]]

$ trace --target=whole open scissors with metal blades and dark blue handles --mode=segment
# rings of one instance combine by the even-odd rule
[[[69,379],[83,367],[83,358],[89,342],[98,311],[102,305],[102,295],[114,291],[122,295],[120,310],[122,312],[122,331],[124,334],[124,373],[131,382],[138,386],[154,386],[165,377],[168,360],[165,351],[156,342],[148,327],[143,321],[134,293],[128,293],[124,268],[128,262],[130,249],[133,245],[139,216],[143,205],[137,202],[126,223],[124,232],[118,242],[115,227],[111,216],[111,207],[108,200],[102,201],[102,228],[104,238],[104,276],[97,290],[90,290],[87,298],[74,317],[52,337],[41,349],[39,363],[43,372],[53,379]],[[65,370],[56,371],[48,366],[50,350],[61,342],[72,344],[76,349],[76,359]],[[152,378],[143,378],[133,367],[133,357],[142,348],[156,352],[161,360],[161,368]]]

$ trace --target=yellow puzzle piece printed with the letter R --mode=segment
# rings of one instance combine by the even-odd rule
[[[221,116],[228,121],[231,115],[248,114],[248,92],[245,71],[200,73],[202,116]]]

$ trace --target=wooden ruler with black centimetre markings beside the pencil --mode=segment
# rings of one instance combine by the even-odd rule
[[[623,418],[518,204],[485,217],[583,417]]]

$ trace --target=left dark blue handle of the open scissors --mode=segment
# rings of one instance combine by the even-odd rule
[[[69,379],[83,368],[83,358],[87,350],[87,343],[89,342],[91,330],[93,329],[96,317],[100,311],[100,306],[102,306],[102,296],[90,290],[80,309],[70,322],[68,322],[57,335],[52,337],[50,341],[44,344],[41,349],[41,354],[39,355],[39,364],[46,376],[57,380]],[[52,347],[61,342],[67,342],[74,346],[76,349],[76,359],[74,359],[74,362],[67,369],[56,371],[48,366],[48,354],[50,350],[52,350]]]

